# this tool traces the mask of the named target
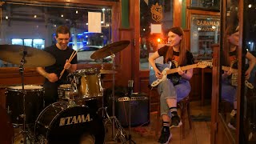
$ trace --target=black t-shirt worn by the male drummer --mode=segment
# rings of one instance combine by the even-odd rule
[[[47,73],[55,73],[60,76],[62,70],[64,69],[64,65],[66,63],[66,59],[70,59],[71,54],[73,53],[73,49],[70,47],[67,47],[66,50],[59,50],[56,45],[46,47],[44,49],[46,52],[52,54],[54,58],[56,59],[56,62],[52,66],[46,66],[45,70]],[[70,62],[71,64],[78,63],[77,55],[74,56],[73,60]],[[67,83],[66,76],[68,75],[68,71],[65,70],[64,74],[62,75],[62,78],[58,80],[58,84]],[[48,79],[46,78],[46,82]]]

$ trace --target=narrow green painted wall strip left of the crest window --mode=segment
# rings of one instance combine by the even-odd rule
[[[129,0],[122,0],[122,28],[129,28]]]

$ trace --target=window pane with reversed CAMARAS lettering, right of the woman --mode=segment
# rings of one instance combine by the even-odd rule
[[[190,51],[195,60],[212,58],[211,44],[219,42],[220,19],[210,15],[191,15]]]

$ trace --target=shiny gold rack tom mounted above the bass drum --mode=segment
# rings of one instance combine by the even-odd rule
[[[75,77],[79,82],[78,95],[80,98],[96,98],[102,97],[102,81],[100,71],[94,68],[88,68],[84,70],[77,70]]]

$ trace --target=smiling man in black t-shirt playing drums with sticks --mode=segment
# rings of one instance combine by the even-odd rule
[[[38,73],[46,78],[43,84],[45,90],[45,106],[57,102],[58,86],[69,83],[66,76],[77,70],[78,60],[76,54],[69,62],[70,56],[74,54],[74,50],[68,46],[70,42],[70,29],[67,26],[58,26],[55,39],[57,43],[53,46],[46,47],[44,50],[52,54],[56,62],[52,66],[37,68]],[[63,69],[65,71],[60,78]]]

